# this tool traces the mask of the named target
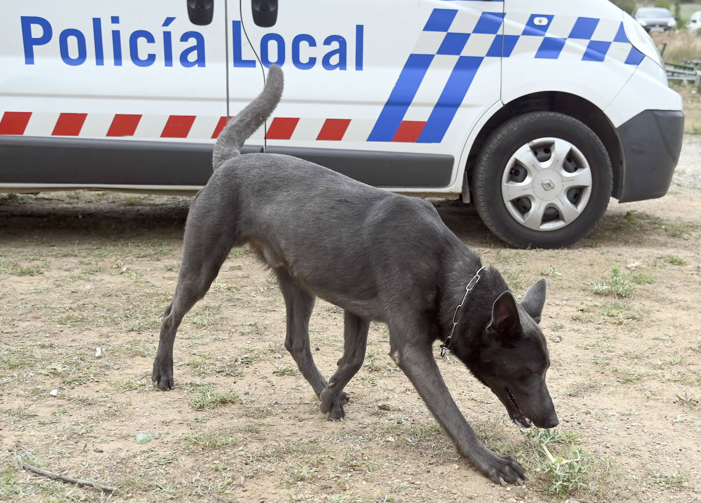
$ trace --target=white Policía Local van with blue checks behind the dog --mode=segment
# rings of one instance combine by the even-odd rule
[[[608,0],[34,0],[0,20],[0,192],[195,192],[273,63],[245,152],[461,197],[515,246],[662,196],[681,149],[660,55]]]

